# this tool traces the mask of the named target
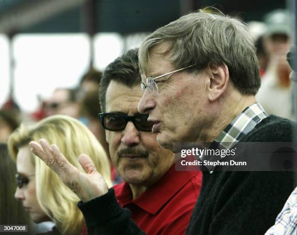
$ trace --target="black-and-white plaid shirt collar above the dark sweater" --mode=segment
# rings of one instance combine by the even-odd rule
[[[266,117],[268,117],[268,115],[259,103],[248,106],[225,127],[211,146],[216,146],[216,148],[220,149],[232,148]],[[215,167],[207,167],[210,173],[213,173],[214,168]]]

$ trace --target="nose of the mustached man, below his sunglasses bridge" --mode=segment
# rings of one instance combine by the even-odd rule
[[[140,143],[140,131],[136,129],[135,125],[130,121],[126,128],[122,131],[123,137],[121,142],[128,147],[136,146]]]

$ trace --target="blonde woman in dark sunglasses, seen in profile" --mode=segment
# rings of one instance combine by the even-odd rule
[[[17,169],[15,197],[22,201],[33,222],[53,221],[52,234],[80,235],[84,228],[84,219],[77,207],[80,199],[30,151],[29,142],[42,138],[50,144],[55,143],[81,172],[84,170],[78,162],[79,155],[90,156],[111,187],[108,158],[85,125],[63,115],[50,116],[30,128],[21,125],[8,140],[9,152],[16,161]]]

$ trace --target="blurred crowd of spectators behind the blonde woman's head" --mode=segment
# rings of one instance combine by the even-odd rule
[[[101,71],[91,68],[82,76],[79,86],[55,89],[48,99],[39,100],[40,105],[37,110],[26,116],[10,97],[0,109],[0,142],[6,142],[22,121],[38,122],[51,115],[61,114],[76,118],[86,125],[109,156],[105,132],[98,117],[101,112],[99,105],[101,77]],[[121,182],[113,167],[112,175],[115,183]]]

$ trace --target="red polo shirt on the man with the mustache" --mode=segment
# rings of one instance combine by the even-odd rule
[[[115,196],[148,235],[185,234],[202,183],[201,172],[177,172],[173,165],[161,180],[132,200],[129,184],[116,185]]]

